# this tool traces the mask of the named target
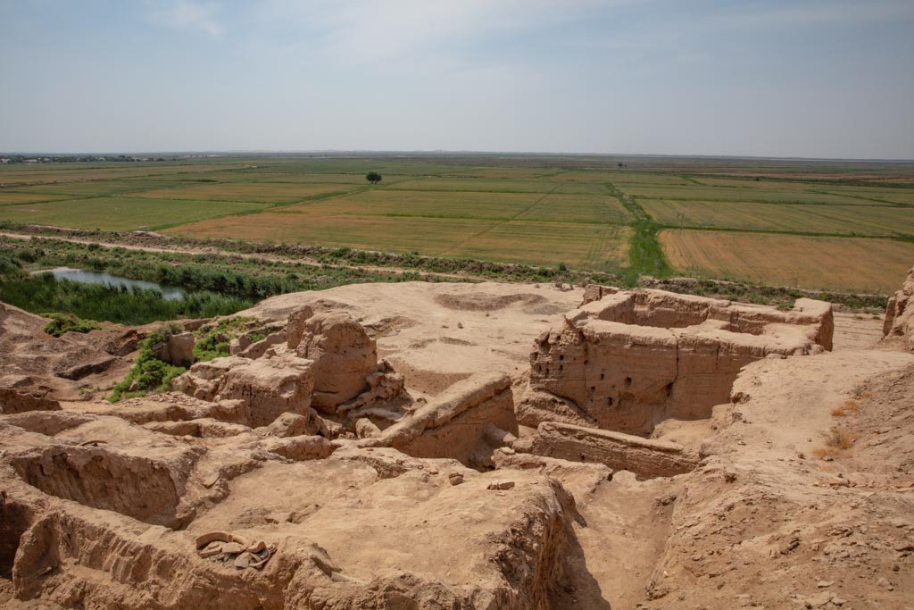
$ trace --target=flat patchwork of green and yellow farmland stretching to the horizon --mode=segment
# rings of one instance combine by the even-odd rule
[[[365,180],[371,170],[380,184]],[[900,260],[914,244],[914,163],[377,154],[17,164],[0,166],[0,221],[564,263],[628,282],[693,273],[862,291],[900,283],[898,268],[914,264]],[[828,255],[807,256],[803,273],[784,257],[764,273],[740,266],[741,251],[764,258],[779,240]],[[866,273],[825,268],[842,244]]]

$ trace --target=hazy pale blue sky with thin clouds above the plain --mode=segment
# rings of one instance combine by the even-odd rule
[[[0,0],[0,150],[914,158],[912,0]]]

